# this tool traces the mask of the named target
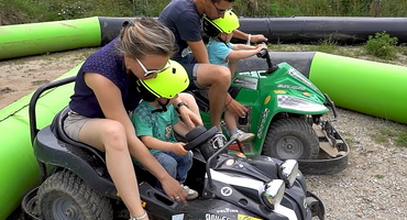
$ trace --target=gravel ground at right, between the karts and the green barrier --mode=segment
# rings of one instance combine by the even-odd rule
[[[344,109],[339,116],[334,128],[351,147],[348,168],[306,176],[327,219],[407,219],[407,146],[396,146],[380,132],[406,132],[407,125]]]

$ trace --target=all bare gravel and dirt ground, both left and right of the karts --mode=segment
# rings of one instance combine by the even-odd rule
[[[0,109],[78,65],[95,50],[0,61]],[[338,109],[334,128],[351,147],[348,168],[307,176],[308,189],[326,206],[327,219],[407,219],[407,146],[396,136],[407,125]],[[8,220],[22,219],[15,212]]]

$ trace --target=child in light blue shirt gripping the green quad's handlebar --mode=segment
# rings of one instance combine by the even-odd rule
[[[216,20],[204,16],[204,31],[210,36],[207,45],[209,62],[211,64],[229,67],[232,78],[235,74],[239,59],[251,57],[257,54],[262,48],[267,48],[264,44],[251,46],[230,43],[233,36],[232,32],[237,30],[239,25],[239,19],[231,10],[228,10],[223,18]],[[224,122],[229,130],[230,139],[237,138],[239,141],[245,142],[254,138],[253,133],[245,133],[238,129],[237,117],[228,110],[224,112]]]

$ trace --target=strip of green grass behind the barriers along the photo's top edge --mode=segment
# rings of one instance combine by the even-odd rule
[[[0,0],[0,25],[88,16],[157,16],[169,1]],[[407,16],[407,0],[234,1],[233,10],[242,16]]]

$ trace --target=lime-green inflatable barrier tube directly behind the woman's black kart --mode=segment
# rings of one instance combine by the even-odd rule
[[[61,78],[76,75],[79,67]],[[69,101],[74,84],[45,92],[36,108],[37,127],[44,128]],[[29,128],[29,102],[32,94],[0,110],[0,219],[6,219],[31,189],[41,183]]]

